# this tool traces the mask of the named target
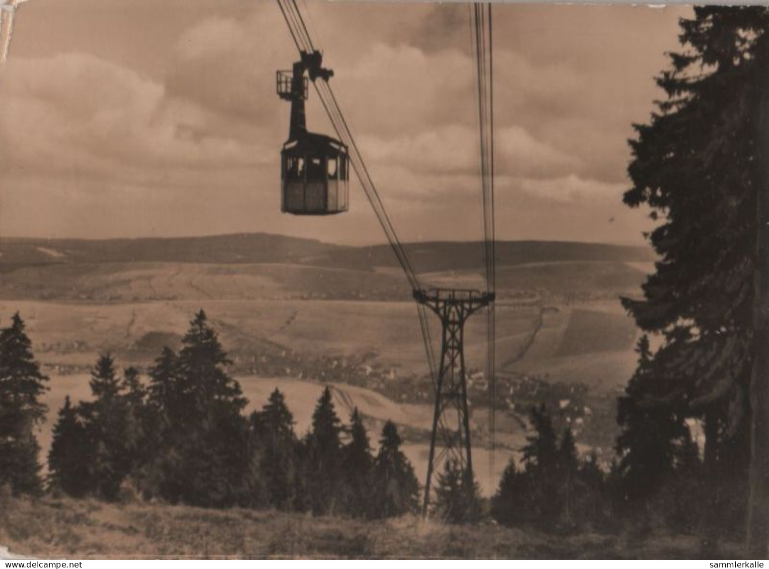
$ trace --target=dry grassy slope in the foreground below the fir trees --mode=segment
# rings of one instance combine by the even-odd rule
[[[95,500],[8,499],[0,504],[0,546],[52,558],[695,558],[694,537],[544,534],[449,526],[407,516],[389,521]],[[737,544],[722,547],[737,557]]]

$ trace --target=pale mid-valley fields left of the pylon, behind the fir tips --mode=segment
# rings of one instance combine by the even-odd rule
[[[316,300],[185,300],[142,303],[0,301],[6,318],[18,310],[47,366],[91,366],[102,352],[148,366],[166,342],[177,347],[189,320],[205,309],[226,348],[253,356],[291,349],[308,355],[374,355],[404,373],[426,369],[414,303]],[[525,328],[528,313],[511,313],[501,330]],[[471,322],[478,338],[483,322]],[[436,323],[433,336],[439,336]],[[503,332],[504,333],[504,332]],[[480,365],[481,342],[468,358]]]

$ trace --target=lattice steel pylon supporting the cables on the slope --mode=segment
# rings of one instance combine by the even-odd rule
[[[435,407],[428,477],[424,485],[422,513],[428,514],[432,475],[448,459],[460,466],[463,480],[473,482],[470,409],[467,367],[464,363],[464,323],[478,310],[494,301],[494,293],[471,289],[415,290],[414,299],[431,309],[443,328],[441,361],[435,378]],[[438,438],[441,440],[438,441]],[[436,446],[440,450],[436,454]]]

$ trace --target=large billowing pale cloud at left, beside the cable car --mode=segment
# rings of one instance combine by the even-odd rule
[[[258,143],[211,134],[214,118],[169,100],[163,85],[92,55],[16,59],[4,79],[5,174],[74,172],[172,185],[200,170],[254,167],[265,156]]]

